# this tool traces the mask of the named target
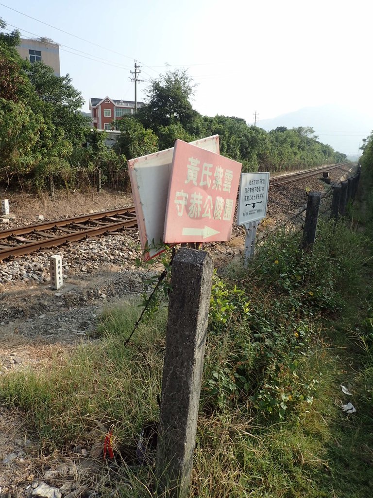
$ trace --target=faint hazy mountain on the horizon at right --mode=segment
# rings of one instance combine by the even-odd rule
[[[278,126],[312,126],[320,142],[348,155],[359,154],[363,138],[371,134],[373,116],[336,105],[305,107],[277,118],[260,120],[257,126],[269,131]],[[361,154],[359,154],[361,155]]]

